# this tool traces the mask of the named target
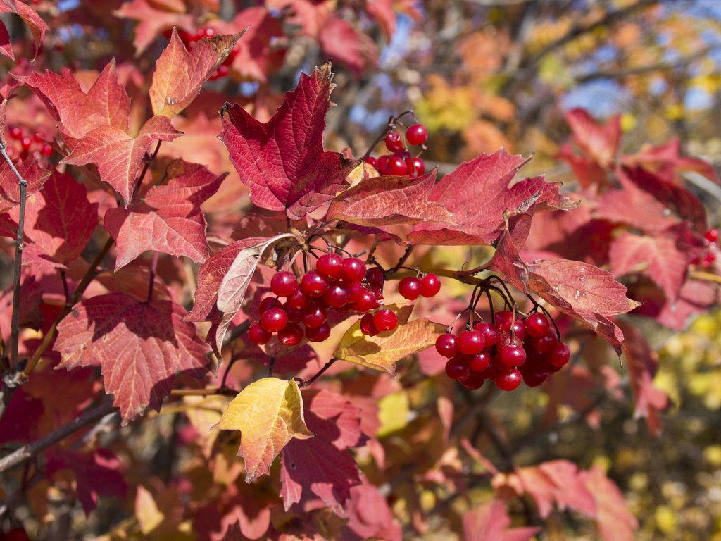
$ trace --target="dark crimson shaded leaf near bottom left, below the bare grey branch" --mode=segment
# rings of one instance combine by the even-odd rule
[[[123,498],[125,480],[120,473],[120,460],[110,449],[79,453],[64,449],[48,451],[48,476],[61,470],[71,470],[77,480],[76,494],[86,516],[95,509],[100,496]]]

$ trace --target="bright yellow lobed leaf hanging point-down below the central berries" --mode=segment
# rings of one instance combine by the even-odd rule
[[[245,460],[248,483],[258,475],[267,475],[288,441],[314,436],[306,426],[298,384],[275,377],[245,387],[213,428],[241,432],[238,456]]]

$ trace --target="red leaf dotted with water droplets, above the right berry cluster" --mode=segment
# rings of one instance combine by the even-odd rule
[[[588,263],[567,259],[541,260],[529,266],[528,289],[601,335],[621,355],[623,333],[611,320],[639,303],[628,299],[614,275]]]

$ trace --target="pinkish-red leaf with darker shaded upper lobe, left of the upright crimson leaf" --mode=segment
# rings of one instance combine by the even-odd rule
[[[205,165],[177,159],[167,167],[165,184],[150,188],[128,208],[110,208],[105,229],[118,246],[115,270],[148,250],[204,261],[207,223],[200,205],[216,193],[226,175],[218,177]]]

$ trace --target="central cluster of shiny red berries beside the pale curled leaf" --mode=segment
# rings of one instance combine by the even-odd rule
[[[362,260],[335,252],[320,256],[315,270],[300,279],[291,271],[275,273],[270,280],[275,296],[260,302],[260,321],[250,325],[248,338],[259,346],[267,344],[274,333],[285,346],[297,346],[304,338],[322,342],[330,336],[327,320],[331,309],[363,314],[361,331],[365,335],[394,330],[398,317],[382,308],[383,283],[380,268],[366,268]]]

